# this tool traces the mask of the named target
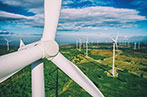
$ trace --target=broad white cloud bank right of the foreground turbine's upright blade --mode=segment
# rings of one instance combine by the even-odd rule
[[[80,29],[136,27],[135,23],[143,20],[146,20],[145,16],[140,16],[139,12],[133,9],[99,6],[81,9],[62,9],[60,17],[60,22],[64,23],[62,25],[70,25],[71,28],[80,26]]]

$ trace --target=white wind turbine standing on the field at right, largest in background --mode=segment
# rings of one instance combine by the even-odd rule
[[[118,33],[117,33],[117,36],[116,38],[112,38],[112,41],[113,41],[113,64],[112,64],[112,76],[114,77],[115,76],[115,46],[118,50],[118,46],[117,46],[117,40],[118,40]]]

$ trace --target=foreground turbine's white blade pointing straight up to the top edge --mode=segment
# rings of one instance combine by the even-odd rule
[[[54,40],[59,20],[60,8],[62,0],[44,0],[44,32],[42,39]]]

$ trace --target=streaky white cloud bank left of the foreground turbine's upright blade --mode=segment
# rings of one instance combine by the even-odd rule
[[[20,14],[0,11],[0,21],[43,27],[44,16],[43,14],[36,14],[35,16],[24,16]]]

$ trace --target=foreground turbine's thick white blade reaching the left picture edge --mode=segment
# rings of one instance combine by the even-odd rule
[[[0,83],[42,56],[39,46],[0,56]]]

